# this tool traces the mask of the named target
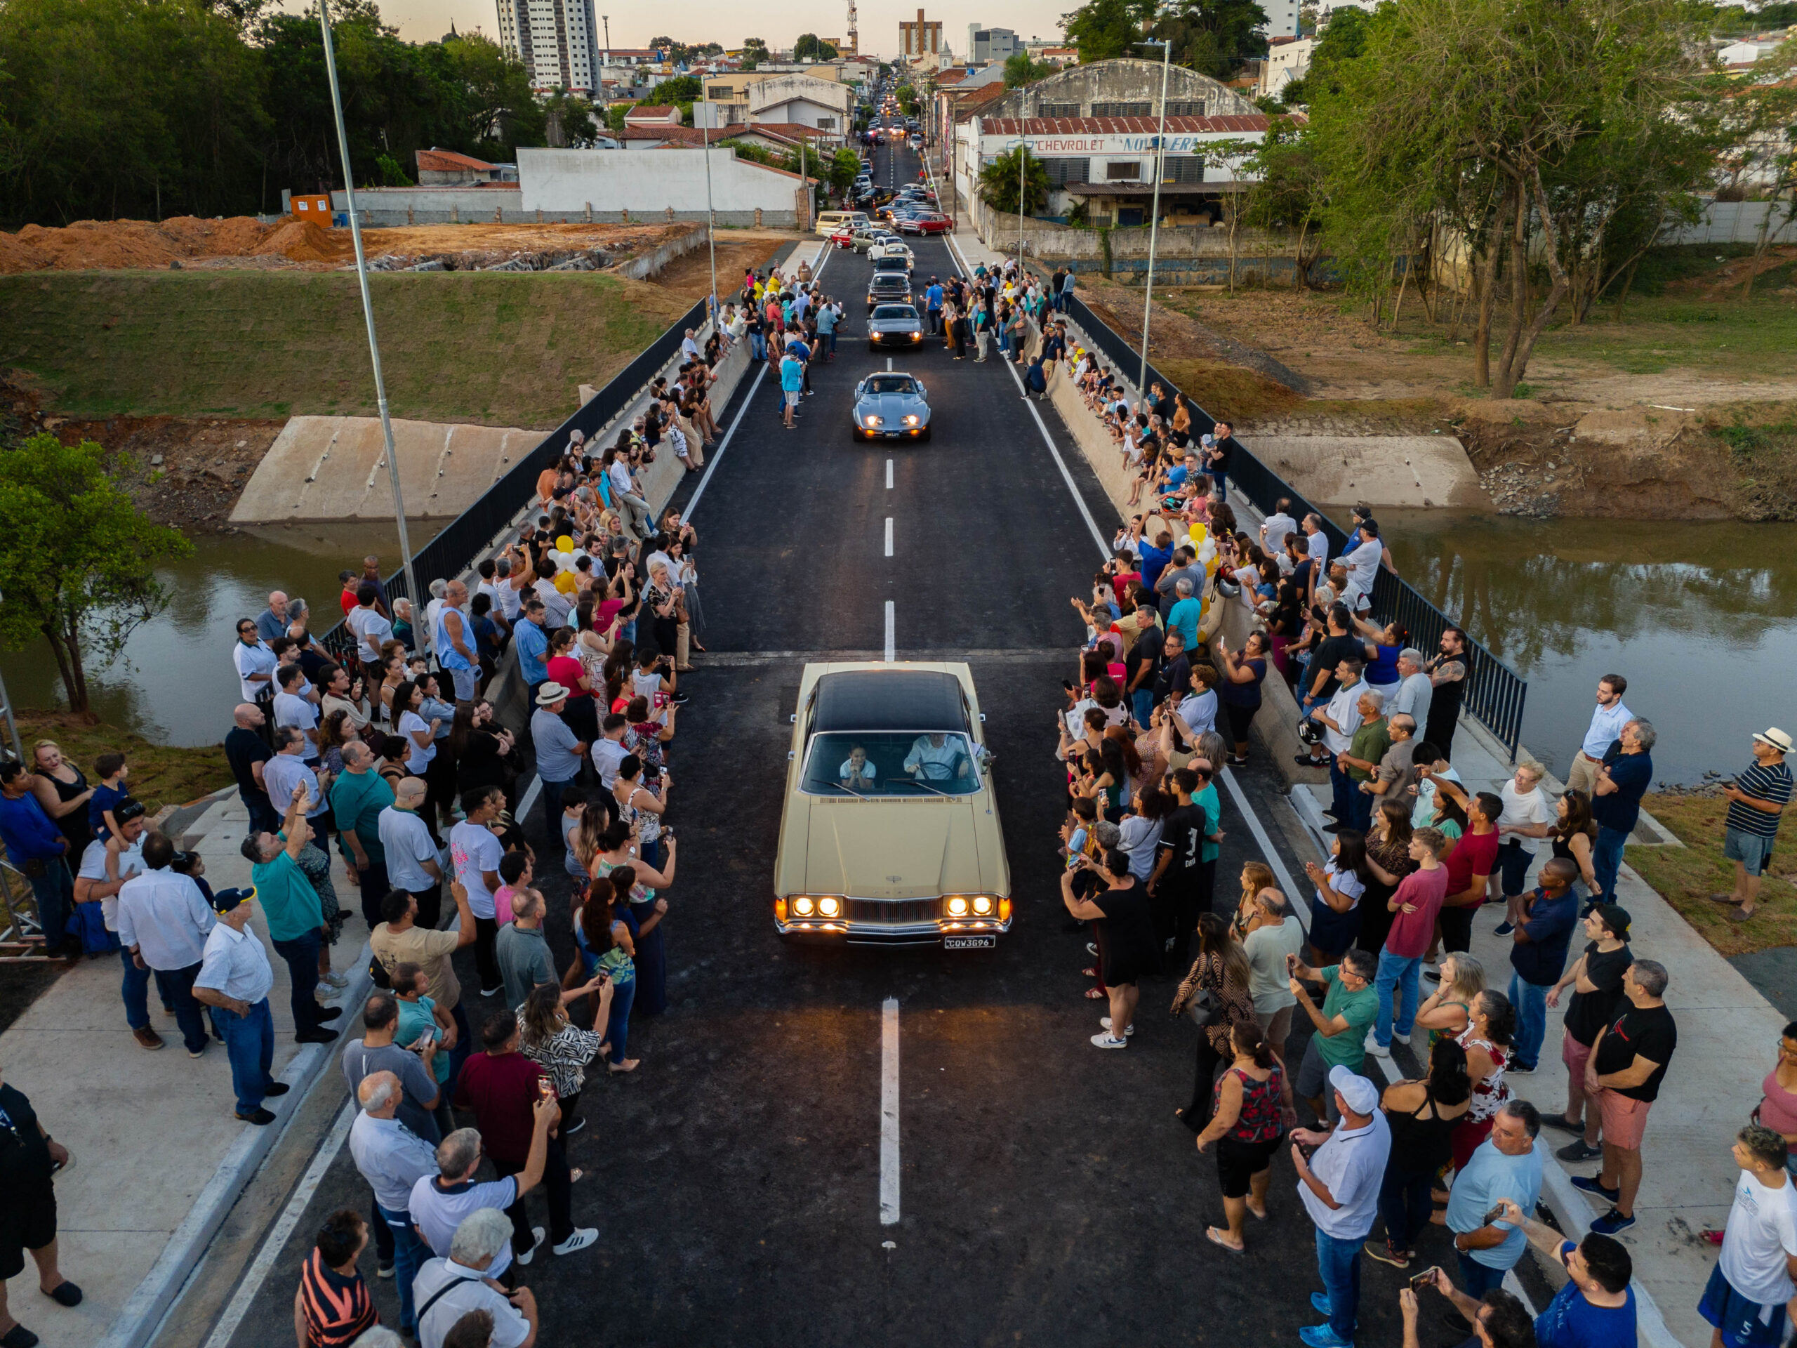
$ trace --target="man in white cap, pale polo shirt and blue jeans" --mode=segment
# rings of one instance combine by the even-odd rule
[[[1378,1087],[1348,1068],[1330,1068],[1330,1091],[1341,1122],[1333,1129],[1294,1129],[1292,1166],[1297,1197],[1317,1228],[1317,1271],[1323,1290],[1310,1305],[1326,1325],[1297,1332],[1310,1348],[1353,1348],[1360,1310],[1360,1242],[1378,1213],[1378,1186],[1391,1154],[1391,1127],[1378,1109]],[[1306,1161],[1305,1147],[1317,1152]]]

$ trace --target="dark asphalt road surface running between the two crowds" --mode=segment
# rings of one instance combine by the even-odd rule
[[[881,147],[875,164],[877,182],[916,176],[907,151]],[[942,239],[915,246],[922,279],[956,266]],[[1173,1118],[1195,1044],[1190,1023],[1168,1015],[1173,980],[1145,981],[1127,1051],[1098,1051],[1085,938],[1062,929],[1053,717],[1082,634],[1067,599],[1087,593],[1100,563],[1078,501],[1105,536],[1116,516],[1051,408],[1019,401],[996,358],[954,363],[940,341],[895,361],[925,381],[934,440],[854,444],[850,392],[886,368],[859,336],[868,271],[855,253],[830,255],[821,286],[848,302],[836,361],[814,372],[794,431],[780,426],[775,381],[744,381],[724,415],[730,428],[740,410],[740,424],[694,514],[712,654],[683,681],[692,703],[670,762],[681,839],[665,920],[670,1007],[633,1026],[634,1075],[588,1084],[589,1125],[570,1161],[588,1172],[575,1220],[600,1238],[568,1258],[544,1249],[523,1271],[541,1343],[1292,1344],[1319,1321],[1308,1292],[1321,1283],[1290,1161],[1276,1159],[1272,1215],[1251,1222],[1247,1255],[1206,1242],[1222,1202],[1213,1159]],[[879,652],[888,602],[897,656],[969,660],[988,714],[1017,899],[996,953],[785,947],[773,931],[801,665]],[[1270,773],[1236,776],[1278,838]],[[541,836],[541,807],[532,823]],[[1224,829],[1218,904],[1261,856],[1227,793]],[[1292,856],[1285,865],[1297,874]],[[559,857],[537,872],[566,967]],[[469,996],[478,1026],[498,999]],[[898,1005],[895,1224],[881,1220],[888,998]],[[1290,1048],[1296,1062],[1303,1039]],[[530,1202],[544,1220],[541,1195]],[[347,1152],[232,1344],[289,1341],[297,1269],[341,1206],[368,1208]],[[1425,1258],[1452,1267],[1439,1235]],[[372,1274],[372,1253],[363,1264]],[[392,1283],[370,1283],[395,1325]],[[1398,1343],[1400,1285],[1366,1264],[1362,1344]],[[1423,1341],[1452,1343],[1438,1310]]]

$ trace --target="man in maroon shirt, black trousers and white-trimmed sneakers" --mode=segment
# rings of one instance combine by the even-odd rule
[[[480,1028],[485,1053],[462,1064],[456,1078],[455,1102],[458,1109],[474,1111],[480,1145],[501,1175],[521,1174],[530,1159],[530,1136],[536,1127],[534,1105],[541,1093],[553,1091],[541,1066],[518,1051],[518,1015],[494,1012]],[[550,1131],[548,1156],[543,1165],[543,1186],[550,1199],[550,1242],[557,1255],[573,1255],[598,1240],[598,1229],[575,1228],[570,1208],[568,1152],[555,1129]],[[505,1210],[512,1219],[512,1249],[525,1256],[536,1244],[525,1199]]]

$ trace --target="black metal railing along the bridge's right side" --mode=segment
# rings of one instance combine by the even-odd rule
[[[1076,295],[1067,297],[1067,316],[1085,329],[1098,350],[1103,352],[1105,359],[1123,377],[1134,377],[1141,370],[1139,349],[1125,341],[1123,336],[1094,315]],[[1179,385],[1150,365],[1148,383],[1154,381],[1159,381],[1164,388],[1179,388]],[[1217,424],[1217,419],[1197,403],[1191,404],[1191,412],[1197,433],[1208,433]],[[1303,492],[1256,458],[1238,439],[1229,437],[1229,480],[1236,491],[1254,503],[1256,510],[1272,514],[1274,505],[1281,498],[1290,500],[1294,519],[1315,514],[1323,521],[1332,557],[1346,550],[1348,532],[1330,519],[1324,510],[1305,500]],[[1420,651],[1438,649],[1441,633],[1457,625],[1448,615],[1423,599],[1409,581],[1385,570],[1380,570],[1378,579],[1373,582],[1373,613],[1385,622],[1402,624],[1411,633],[1411,643]],[[1466,640],[1466,651],[1468,669],[1461,710],[1502,741],[1504,748],[1509,749],[1509,757],[1515,758],[1517,741],[1522,737],[1522,705],[1529,685],[1509,665],[1472,638]]]

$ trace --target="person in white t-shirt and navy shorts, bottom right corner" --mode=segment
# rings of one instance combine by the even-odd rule
[[[1797,1294],[1797,1195],[1784,1170],[1784,1138],[1763,1123],[1736,1134],[1734,1206],[1722,1256],[1698,1314],[1716,1326],[1711,1344],[1784,1343],[1786,1303]]]

